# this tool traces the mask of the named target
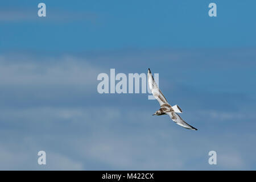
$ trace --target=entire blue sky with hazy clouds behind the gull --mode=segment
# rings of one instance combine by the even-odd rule
[[[1,2],[0,169],[256,169],[255,6]],[[199,130],[152,117],[159,104],[147,94],[99,94],[97,75],[110,68],[159,73],[167,100]]]

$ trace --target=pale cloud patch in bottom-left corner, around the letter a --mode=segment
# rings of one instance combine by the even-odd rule
[[[35,139],[30,142],[36,143]],[[56,153],[51,150],[46,151],[46,165],[39,165],[37,155],[38,144],[30,144],[23,140],[22,143],[8,143],[5,146],[1,144],[0,148],[0,169],[1,170],[82,170],[81,162],[72,160],[70,157]],[[39,143],[39,142],[37,142]]]

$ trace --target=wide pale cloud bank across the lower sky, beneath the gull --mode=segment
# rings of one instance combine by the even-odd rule
[[[13,137],[6,141],[8,144],[1,142],[0,168],[210,169],[209,150],[217,151],[217,169],[248,167],[249,159],[240,155],[240,147],[246,146],[226,144],[230,137],[225,133],[204,134],[202,138],[199,133],[176,126],[168,117],[151,117],[147,110],[141,110],[139,116],[137,109],[100,106],[3,110],[1,125],[7,124],[6,118],[10,121],[7,129],[1,129],[0,137],[7,133]],[[254,138],[248,142],[251,140]],[[47,152],[46,167],[34,163],[39,150]]]

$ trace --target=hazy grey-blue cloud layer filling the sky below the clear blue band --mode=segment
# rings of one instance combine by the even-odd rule
[[[255,74],[248,66],[255,53],[242,65],[234,56],[239,51],[218,53],[215,62],[202,50],[1,55],[0,168],[255,169],[255,81],[247,79]],[[174,67],[146,64],[156,59]],[[135,68],[129,60],[142,61]],[[115,64],[120,61],[125,67]],[[99,73],[142,73],[148,67],[159,73],[167,100],[198,131],[166,115],[151,116],[159,104],[147,94],[97,92]],[[218,77],[225,73],[232,78],[228,85]],[[236,78],[250,89],[240,89]],[[37,164],[40,150],[47,153],[46,166]],[[217,166],[208,164],[210,150],[217,152]]]

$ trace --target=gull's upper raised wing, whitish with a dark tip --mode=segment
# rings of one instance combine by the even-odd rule
[[[158,100],[160,106],[163,104],[168,104],[166,97],[164,97],[163,93],[158,88],[158,85],[156,84],[154,78],[152,77],[152,73],[149,68],[147,72],[147,80],[148,80],[148,86],[150,87],[150,90],[153,96],[156,98],[156,100]]]

